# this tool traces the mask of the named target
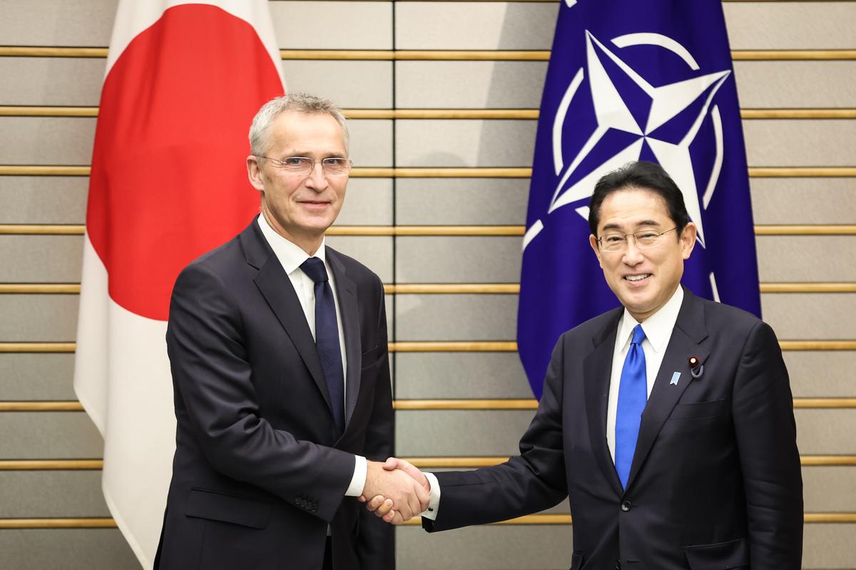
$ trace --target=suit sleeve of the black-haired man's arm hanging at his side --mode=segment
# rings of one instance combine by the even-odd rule
[[[753,570],[799,570],[803,494],[794,401],[776,334],[758,322],[734,382],[734,430]]]

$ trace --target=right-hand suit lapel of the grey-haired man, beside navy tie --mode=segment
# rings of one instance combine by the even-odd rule
[[[345,333],[345,356],[347,372],[345,374],[345,425],[354,414],[357,396],[360,394],[360,312],[357,305],[357,286],[348,277],[345,266],[336,250],[327,248],[327,261],[336,281],[336,297],[339,299],[339,312],[342,314],[342,331]]]

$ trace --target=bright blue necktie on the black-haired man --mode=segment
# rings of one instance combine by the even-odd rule
[[[645,352],[642,341],[645,331],[642,325],[633,329],[630,350],[621,368],[621,384],[618,387],[618,407],[615,410],[615,471],[621,486],[627,488],[630,465],[639,438],[639,424],[648,401],[648,381],[645,374]]]

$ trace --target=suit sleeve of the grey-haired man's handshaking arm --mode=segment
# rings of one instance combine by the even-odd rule
[[[354,474],[354,455],[296,439],[260,417],[237,303],[203,264],[179,275],[167,329],[177,419],[188,422],[217,472],[291,504],[318,497],[313,514],[329,522]]]

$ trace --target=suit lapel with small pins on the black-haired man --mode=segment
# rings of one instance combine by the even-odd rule
[[[648,456],[651,445],[663,428],[663,423],[669,419],[675,404],[693,381],[690,375],[689,357],[698,356],[704,363],[709,356],[709,352],[699,346],[704,338],[707,338],[704,308],[698,298],[685,288],[684,301],[678,313],[678,320],[675,321],[675,329],[669,338],[666,354],[663,355],[663,362],[657,372],[657,379],[654,380],[651,396],[648,397],[648,403],[642,414],[639,438],[636,440],[633,464],[630,466],[630,476],[627,479],[628,488],[633,485],[633,479],[645,462],[645,457]],[[675,372],[681,373],[677,385],[671,384],[672,375]]]

